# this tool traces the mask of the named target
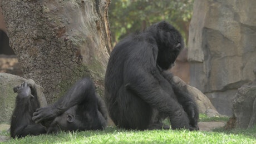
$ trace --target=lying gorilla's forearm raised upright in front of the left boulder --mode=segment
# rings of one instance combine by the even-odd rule
[[[31,121],[32,113],[39,107],[36,95],[31,95],[31,88],[27,83],[13,88],[17,92],[16,107],[14,108],[11,120],[11,137],[24,137],[27,135],[40,135],[46,133],[42,125]]]

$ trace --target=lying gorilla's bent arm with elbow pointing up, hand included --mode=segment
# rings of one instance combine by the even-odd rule
[[[96,103],[95,88],[89,78],[83,78],[76,82],[70,90],[52,106],[38,108],[33,113],[32,120],[36,123],[52,120],[61,115],[70,107],[75,105],[85,105],[86,103]]]

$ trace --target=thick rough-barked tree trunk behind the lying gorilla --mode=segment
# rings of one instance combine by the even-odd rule
[[[102,95],[111,51],[110,0],[2,0],[10,45],[25,78],[56,101],[81,77],[89,76]]]

